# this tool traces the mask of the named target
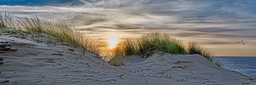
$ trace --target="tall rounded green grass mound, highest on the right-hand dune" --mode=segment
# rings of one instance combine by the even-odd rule
[[[181,40],[170,38],[167,34],[149,33],[138,40],[138,52],[145,58],[154,52],[168,52],[170,54],[185,54]]]

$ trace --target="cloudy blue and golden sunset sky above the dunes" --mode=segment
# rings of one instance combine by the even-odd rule
[[[159,32],[185,44],[198,41],[217,56],[256,56],[252,0],[0,0],[0,12],[5,11],[70,23],[110,47]],[[239,40],[245,45],[235,43]]]

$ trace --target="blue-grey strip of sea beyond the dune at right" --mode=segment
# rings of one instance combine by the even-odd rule
[[[247,76],[256,76],[256,57],[214,57],[220,60],[220,66]]]

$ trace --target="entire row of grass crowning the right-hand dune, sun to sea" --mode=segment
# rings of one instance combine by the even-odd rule
[[[149,33],[142,35],[137,40],[125,40],[122,44],[114,48],[113,57],[141,55],[144,58],[149,57],[155,52],[167,52],[175,55],[193,55],[198,54],[212,61],[213,52],[206,50],[198,45],[198,42],[189,42],[186,48],[181,40],[171,38],[167,34]]]

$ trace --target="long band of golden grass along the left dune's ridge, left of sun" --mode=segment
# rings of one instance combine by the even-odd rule
[[[69,45],[78,45],[87,51],[99,53],[96,40],[85,37],[81,32],[69,28],[65,23],[43,21],[37,16],[13,18],[8,14],[0,13],[0,28],[21,29],[31,34],[45,33]]]

